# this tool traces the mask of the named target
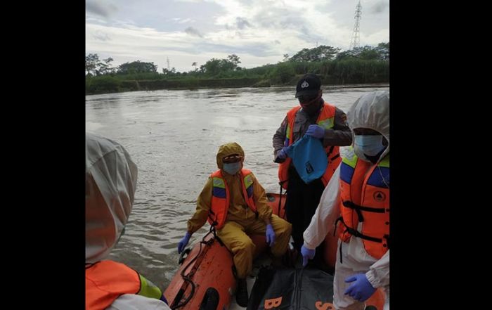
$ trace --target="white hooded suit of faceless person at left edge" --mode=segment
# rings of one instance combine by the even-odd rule
[[[137,167],[119,143],[86,133],[86,264],[105,259],[127,224],[134,203]],[[168,310],[164,302],[124,294],[106,309]]]

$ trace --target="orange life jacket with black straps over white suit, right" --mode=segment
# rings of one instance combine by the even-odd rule
[[[389,249],[389,155],[377,165],[353,154],[340,164],[340,239],[362,238],[370,256],[380,259]],[[337,220],[337,221],[338,221]],[[362,223],[362,231],[357,231]]]

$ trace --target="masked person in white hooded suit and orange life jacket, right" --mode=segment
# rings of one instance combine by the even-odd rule
[[[354,135],[304,231],[303,264],[337,223],[339,235],[333,305],[363,310],[377,288],[389,310],[389,92],[365,93],[347,112]]]

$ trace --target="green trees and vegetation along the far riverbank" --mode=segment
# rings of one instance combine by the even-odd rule
[[[86,93],[111,93],[155,89],[199,89],[227,87],[268,87],[294,85],[299,75],[315,73],[323,84],[363,84],[389,82],[389,43],[376,47],[342,51],[332,46],[302,49],[294,56],[284,55],[275,65],[246,69],[235,54],[226,59],[212,58],[188,72],[162,69],[140,60],[110,67],[112,58],[99,60],[86,56]]]

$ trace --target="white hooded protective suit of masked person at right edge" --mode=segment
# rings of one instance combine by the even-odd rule
[[[380,132],[387,138],[388,146],[380,156],[380,160],[389,153],[389,92],[375,91],[366,93],[358,98],[347,112],[349,127],[368,128]],[[353,131],[352,131],[353,132]],[[351,156],[351,152],[347,156]],[[377,164],[377,163],[376,163]],[[321,195],[320,203],[304,231],[304,247],[316,249],[328,232],[334,228],[335,221],[340,216],[340,167],[335,170],[332,179]],[[362,231],[362,224],[358,224],[358,231]],[[338,240],[338,248],[342,241]],[[356,273],[365,273],[374,288],[383,288],[386,292],[384,310],[389,310],[389,250],[381,259],[375,259],[365,251],[362,239],[351,236],[349,243],[342,244],[342,261],[340,251],[337,250],[335,264],[335,279],[333,290],[333,304],[337,310],[363,310],[364,303],[358,302],[344,291],[351,285],[345,283],[345,278]]]

